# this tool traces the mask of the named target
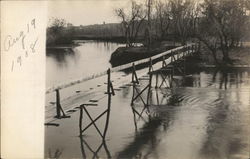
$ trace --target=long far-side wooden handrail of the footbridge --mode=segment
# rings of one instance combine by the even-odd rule
[[[150,59],[155,60],[155,59],[158,59],[161,56],[168,55],[168,54],[170,54],[172,52],[181,50],[183,48],[186,48],[186,47],[192,46],[192,45],[195,45],[195,44],[194,43],[187,44],[187,45],[180,46],[180,47],[177,47],[177,48],[174,48],[174,49],[171,49],[171,50],[167,50],[167,51],[165,51],[163,53],[160,53],[160,54],[157,54],[157,55],[145,58],[145,59],[141,59],[141,60],[138,60],[138,61],[130,62],[128,64],[117,66],[117,67],[111,68],[111,72],[118,72],[118,71],[130,68],[130,67],[132,67],[133,63],[134,63],[134,65],[147,63],[147,62],[149,62]],[[82,82],[85,82],[85,81],[88,81],[88,80],[91,80],[91,79],[95,79],[95,78],[104,76],[106,74],[107,74],[107,71],[98,72],[96,74],[92,74],[92,75],[89,75],[89,76],[86,76],[86,77],[82,77],[82,78],[79,78],[79,79],[76,79],[76,80],[72,80],[72,81],[67,82],[67,83],[63,83],[63,84],[60,84],[60,85],[57,85],[57,86],[52,86],[52,87],[46,89],[46,94],[52,93],[55,90],[64,89],[64,88],[67,88],[67,87],[70,87],[70,86],[73,86],[73,85],[76,85],[76,84],[79,84],[79,83],[82,83]]]

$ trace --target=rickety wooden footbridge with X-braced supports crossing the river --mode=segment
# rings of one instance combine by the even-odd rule
[[[46,90],[47,95],[54,96],[55,102],[52,102],[52,105],[46,110],[46,114],[50,114],[50,116],[46,116],[45,119],[45,125],[52,125],[52,126],[59,126],[59,124],[53,123],[53,121],[62,119],[62,118],[70,118],[70,114],[74,111],[77,111],[77,109],[80,109],[80,117],[79,117],[79,129],[80,129],[80,136],[90,127],[94,126],[98,132],[98,134],[101,136],[101,138],[104,140],[106,137],[106,132],[108,129],[109,124],[109,117],[110,117],[110,110],[111,110],[111,98],[115,95],[115,91],[117,89],[123,88],[122,85],[124,83],[129,84],[133,87],[133,95],[131,98],[131,108],[133,110],[133,113],[137,114],[138,116],[141,116],[143,111],[149,111],[148,106],[149,98],[150,98],[150,92],[152,91],[152,77],[155,76],[155,87],[161,88],[161,87],[172,87],[172,79],[173,75],[176,71],[178,73],[185,76],[186,70],[185,70],[185,59],[187,56],[191,56],[195,53],[197,53],[199,50],[199,46],[197,44],[188,44],[185,46],[177,47],[172,50],[165,51],[161,54],[152,56],[150,58],[145,58],[142,60],[138,60],[132,63],[128,63],[125,65],[121,65],[114,68],[108,68],[106,71],[99,72],[96,74],[93,74],[91,76],[86,76],[77,80],[70,81],[65,84],[61,84],[58,86],[54,86],[51,88],[48,88]],[[137,69],[139,65],[147,65],[148,69]],[[131,74],[124,75],[119,74],[120,77],[117,78],[117,80],[111,80],[111,76],[114,73],[120,72],[125,69],[132,70]],[[131,76],[130,76],[131,75]],[[98,94],[95,94],[96,96],[99,96],[99,100],[103,99],[105,97],[108,98],[108,104],[107,109],[105,109],[100,115],[98,115],[96,118],[92,118],[90,113],[88,112],[88,106],[97,106],[98,100],[89,100],[88,97],[84,97],[88,102],[83,103],[85,100],[79,100],[80,102],[76,104],[72,104],[71,101],[76,101],[75,99],[60,99],[60,93],[73,86],[77,86],[78,84],[81,84],[83,82],[93,80],[96,78],[104,77],[105,81],[105,87],[100,89],[105,89],[105,92]],[[161,79],[161,80],[160,80]],[[138,89],[138,86],[140,84],[140,81],[148,81],[148,84],[145,86],[145,88]],[[93,91],[92,91],[93,92]],[[147,97],[144,99],[142,97],[142,94],[146,92]],[[88,93],[91,94],[91,91]],[[83,93],[84,94],[84,93]],[[77,96],[76,98],[80,98],[81,96]],[[81,98],[80,98],[81,99]],[[67,101],[68,102],[65,102]],[[134,107],[135,100],[140,100],[142,104],[144,105],[144,108],[142,112],[138,112]],[[63,101],[63,102],[62,102]],[[73,108],[73,110],[72,110]],[[67,110],[69,109],[69,110]],[[83,127],[82,120],[83,120],[83,114],[86,114],[88,116],[89,120],[91,121],[88,125]],[[100,131],[95,122],[102,117],[106,116],[106,124],[103,131]],[[100,146],[100,148],[104,146],[105,148],[105,142]]]

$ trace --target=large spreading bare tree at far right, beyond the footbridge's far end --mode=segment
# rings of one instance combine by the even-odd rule
[[[204,37],[209,35],[210,38],[216,39],[213,45],[221,50],[223,61],[231,63],[229,51],[238,46],[246,29],[244,0],[204,0],[201,6],[203,24],[200,25],[199,39],[207,46],[211,46],[211,40]]]

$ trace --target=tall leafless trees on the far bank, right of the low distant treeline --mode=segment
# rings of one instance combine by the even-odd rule
[[[215,61],[220,50],[230,62],[228,52],[239,46],[249,29],[249,0],[146,0],[131,1],[128,8],[117,8],[127,46],[143,32],[147,46],[168,39],[186,44],[198,39],[211,51]],[[143,24],[143,25],[142,25]],[[146,27],[145,27],[146,25]]]

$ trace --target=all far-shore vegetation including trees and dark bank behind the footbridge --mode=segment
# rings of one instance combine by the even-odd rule
[[[166,41],[180,45],[192,41],[200,44],[201,63],[250,64],[249,46],[242,45],[250,39],[249,0],[132,0],[114,14],[120,23],[74,26],[64,19],[51,19],[47,49],[70,49],[77,46],[74,40],[125,43],[110,58],[112,66],[118,66],[176,46],[166,46]]]

